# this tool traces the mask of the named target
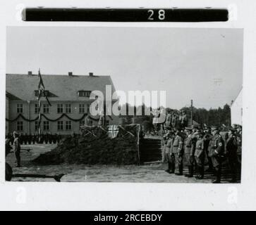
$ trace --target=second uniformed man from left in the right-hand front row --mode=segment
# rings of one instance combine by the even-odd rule
[[[178,165],[178,173],[176,175],[183,175],[183,138],[181,132],[176,129],[175,137],[173,139],[172,153],[175,157],[175,162]]]

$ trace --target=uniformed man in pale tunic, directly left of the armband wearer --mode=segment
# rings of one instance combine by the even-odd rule
[[[203,179],[205,175],[205,148],[204,148],[204,134],[202,131],[197,131],[197,142],[195,143],[195,160],[197,162],[197,169],[199,176],[196,179]]]

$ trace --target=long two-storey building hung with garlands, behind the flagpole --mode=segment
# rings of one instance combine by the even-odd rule
[[[106,85],[115,91],[110,76],[89,75],[42,75],[46,98],[41,98],[42,123],[44,134],[73,134],[80,126],[97,125],[99,116],[90,115],[92,91],[106,94]],[[6,133],[18,131],[23,134],[36,134],[38,124],[38,75],[6,74]],[[111,102],[113,104],[113,102]],[[106,116],[106,124],[118,124],[118,117]]]

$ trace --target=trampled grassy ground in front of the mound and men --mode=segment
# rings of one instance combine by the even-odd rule
[[[31,148],[30,152],[25,150],[21,153],[20,168],[14,167],[15,157],[10,153],[6,162],[13,167],[13,174],[66,174],[61,181],[76,181],[76,182],[159,182],[159,183],[210,183],[211,174],[205,174],[205,179],[197,180],[195,178],[187,178],[185,176],[176,176],[164,172],[166,169],[165,163],[152,165],[51,165],[37,166],[32,165],[30,160],[37,158],[40,153],[45,153],[53,148],[53,144],[38,144],[22,146],[22,149]],[[185,168],[185,172],[187,169]],[[229,177],[226,177],[223,183],[228,182]],[[12,181],[54,181],[54,179],[42,178],[16,178]]]

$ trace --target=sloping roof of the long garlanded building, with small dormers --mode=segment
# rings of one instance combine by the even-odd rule
[[[89,98],[78,96],[78,91],[102,91],[105,85],[115,88],[110,76],[88,75],[42,75],[45,90],[49,90],[49,101],[83,101]],[[6,92],[23,101],[37,100],[38,75],[6,74]]]

